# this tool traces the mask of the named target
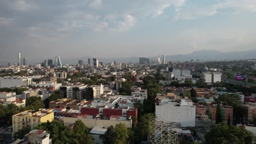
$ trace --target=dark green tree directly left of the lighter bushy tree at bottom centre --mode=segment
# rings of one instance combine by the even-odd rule
[[[106,133],[101,136],[104,144],[112,144],[115,143],[115,130],[114,127],[111,125],[108,127]]]

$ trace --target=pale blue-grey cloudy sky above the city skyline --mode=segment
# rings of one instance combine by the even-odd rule
[[[1,0],[0,61],[256,49],[255,0]]]

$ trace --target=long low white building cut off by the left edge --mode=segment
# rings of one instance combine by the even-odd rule
[[[21,76],[8,76],[0,78],[0,88],[3,87],[27,87],[31,85],[32,78]]]

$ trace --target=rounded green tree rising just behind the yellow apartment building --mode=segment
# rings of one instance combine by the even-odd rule
[[[41,97],[29,97],[26,100],[26,109],[27,110],[35,110],[38,111],[39,109],[44,108],[43,100]]]

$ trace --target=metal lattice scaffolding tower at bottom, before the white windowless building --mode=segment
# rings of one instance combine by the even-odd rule
[[[176,144],[178,143],[177,126],[174,123],[165,123],[156,117],[149,118],[149,143],[154,144]]]

